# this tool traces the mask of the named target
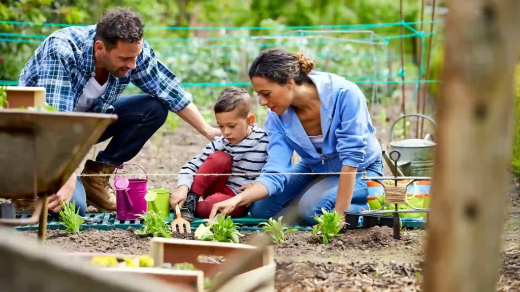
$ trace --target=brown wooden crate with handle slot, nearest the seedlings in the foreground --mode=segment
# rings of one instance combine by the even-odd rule
[[[163,263],[188,262],[193,264],[196,269],[204,272],[205,277],[213,278],[217,273],[219,262],[200,261],[199,256],[217,256],[224,257],[224,260],[232,253],[239,250],[254,250],[255,246],[235,243],[218,243],[193,240],[178,240],[174,238],[154,237],[150,240],[150,256],[156,265],[161,266]],[[274,262],[274,250],[269,246],[260,256],[251,260],[240,274],[219,291],[235,291],[249,290],[256,286],[259,280],[264,278],[265,285],[257,288],[256,292],[272,292],[275,291],[275,271],[276,263]],[[237,287],[240,287],[237,290]]]

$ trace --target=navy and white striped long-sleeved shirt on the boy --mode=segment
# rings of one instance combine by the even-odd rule
[[[228,140],[222,136],[216,137],[206,145],[202,153],[193,157],[191,161],[181,168],[177,187],[186,185],[191,189],[193,174],[197,172],[210,154],[217,151],[223,151],[231,156],[231,172],[233,174],[259,174],[267,162],[268,143],[267,132],[259,128],[257,124],[253,125],[249,137],[235,145],[230,144]],[[241,192],[238,188],[244,184],[255,182],[258,176],[259,175],[232,175],[228,178],[227,186],[235,194],[238,194]]]

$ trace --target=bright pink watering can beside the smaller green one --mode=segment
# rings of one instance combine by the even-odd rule
[[[123,165],[135,165],[145,172],[146,179],[118,177],[118,169]],[[147,193],[148,174],[146,170],[137,164],[122,164],[115,170],[115,196],[116,196],[116,214],[117,220],[139,220],[137,215],[145,214],[148,203],[145,200]]]

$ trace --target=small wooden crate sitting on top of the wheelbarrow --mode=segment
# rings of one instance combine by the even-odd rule
[[[45,104],[45,87],[7,86],[6,108],[29,108]]]

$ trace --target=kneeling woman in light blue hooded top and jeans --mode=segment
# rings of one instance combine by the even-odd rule
[[[366,98],[354,83],[314,69],[313,60],[281,49],[263,51],[253,61],[251,84],[260,104],[270,110],[264,124],[268,160],[255,183],[214,205],[210,219],[217,211],[229,214],[236,206],[250,204],[253,217],[270,218],[298,197],[307,224],[316,224],[313,216],[321,215],[321,208],[340,214],[368,209],[361,172],[383,176],[383,164]],[[293,151],[301,157],[295,166]],[[288,172],[291,175],[284,175]],[[317,177],[304,174],[309,172],[342,173],[327,175],[302,194]]]

